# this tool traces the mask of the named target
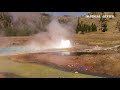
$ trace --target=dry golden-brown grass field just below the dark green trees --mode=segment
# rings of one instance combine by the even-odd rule
[[[74,41],[80,44],[99,45],[99,46],[114,46],[120,44],[120,33],[112,32],[94,32],[84,35],[74,35]]]

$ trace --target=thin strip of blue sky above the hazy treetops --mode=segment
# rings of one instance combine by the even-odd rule
[[[81,16],[81,15],[85,15],[87,12],[46,12],[46,13],[57,16],[63,16],[63,15]]]

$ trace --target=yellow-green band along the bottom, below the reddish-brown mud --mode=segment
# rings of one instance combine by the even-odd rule
[[[100,78],[62,71],[42,64],[13,62],[5,56],[0,56],[0,72],[10,72],[27,78]]]

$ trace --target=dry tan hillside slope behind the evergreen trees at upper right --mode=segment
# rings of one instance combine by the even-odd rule
[[[116,30],[116,24],[117,21],[120,20],[120,12],[115,12],[116,13],[116,17],[114,17],[113,19],[107,18],[107,25],[108,25],[108,31],[107,32],[115,32]],[[89,13],[90,15],[92,15],[92,13]],[[94,15],[101,15],[102,12],[95,12]],[[104,12],[105,15],[113,15],[113,12]],[[100,19],[99,18],[86,18],[85,16],[80,17],[80,21],[82,21],[83,23],[86,24],[92,24],[95,23],[97,25],[98,28],[100,28]]]

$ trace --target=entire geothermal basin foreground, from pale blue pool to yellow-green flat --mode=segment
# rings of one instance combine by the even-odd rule
[[[120,55],[111,48],[105,52],[106,50],[107,48],[34,50],[22,46],[0,48],[0,55],[7,56],[7,58],[1,57],[3,59],[0,59],[0,72],[13,72],[23,77],[45,77],[46,74],[43,75],[41,71],[46,71],[47,68],[47,72],[44,71],[47,73],[46,77],[64,77],[60,73],[65,73],[65,75],[70,73],[71,76],[73,75],[72,77],[76,77],[76,73],[78,73],[78,77],[80,74],[85,77],[91,75],[93,77],[119,77],[119,72],[116,71],[118,68],[113,64],[119,63],[119,61],[111,60],[111,57],[116,54],[115,58],[119,58]],[[110,59],[108,56],[111,56]],[[48,73],[49,70],[55,75]],[[66,77],[70,77],[67,75]]]

